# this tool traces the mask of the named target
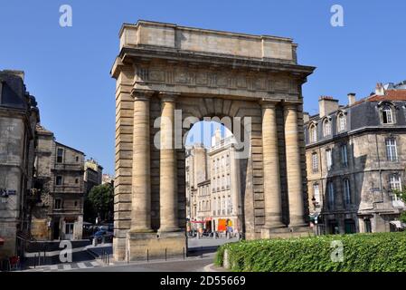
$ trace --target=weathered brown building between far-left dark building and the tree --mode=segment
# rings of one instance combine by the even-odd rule
[[[83,227],[84,153],[55,141],[37,126],[35,178],[42,197],[33,210],[32,235],[38,240],[80,239]]]

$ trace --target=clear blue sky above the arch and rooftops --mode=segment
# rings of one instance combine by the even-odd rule
[[[73,26],[59,25],[71,5]],[[344,27],[330,25],[330,7],[344,7]],[[298,62],[316,72],[304,85],[305,109],[320,95],[346,103],[376,82],[406,79],[403,0],[284,1],[6,1],[0,0],[0,70],[25,71],[42,125],[57,140],[114,173],[115,82],[109,70],[122,23],[138,19],[246,34],[294,38]]]

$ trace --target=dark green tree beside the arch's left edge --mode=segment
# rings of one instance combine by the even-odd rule
[[[111,221],[114,211],[114,189],[109,183],[98,185],[90,189],[87,204],[93,218]],[[94,221],[94,219],[93,219]]]

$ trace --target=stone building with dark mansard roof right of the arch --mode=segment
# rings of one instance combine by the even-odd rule
[[[385,232],[401,227],[405,185],[406,82],[378,84],[341,106],[321,97],[305,118],[307,190],[319,233]]]

